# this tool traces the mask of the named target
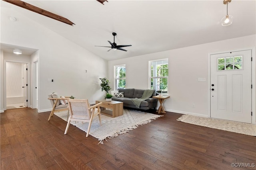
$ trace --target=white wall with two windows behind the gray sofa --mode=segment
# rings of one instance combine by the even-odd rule
[[[114,65],[126,64],[126,88],[148,89],[148,61],[168,58],[168,88],[171,97],[164,101],[164,108],[167,111],[207,117],[208,90],[210,89],[208,87],[208,54],[255,47],[255,41],[255,35],[250,35],[109,61],[108,78],[111,88],[114,89]],[[206,82],[198,82],[199,77],[206,78]],[[192,104],[195,104],[195,108]]]

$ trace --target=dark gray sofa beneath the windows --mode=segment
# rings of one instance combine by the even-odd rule
[[[144,90],[127,88],[127,89],[118,89],[118,91],[119,93],[123,92],[124,96],[119,95],[119,97],[112,97],[112,100],[123,102],[124,107],[131,107],[131,108],[138,109],[138,107],[136,107],[132,102],[131,98],[141,98],[144,93]],[[156,90],[154,90],[152,96],[156,96]],[[156,109],[158,100],[155,98],[152,98],[152,96],[142,101],[140,103],[139,109],[143,109],[143,110],[148,110],[152,108]]]

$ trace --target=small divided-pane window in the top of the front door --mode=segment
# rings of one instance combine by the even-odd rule
[[[218,59],[218,70],[242,69],[242,56],[225,57]]]

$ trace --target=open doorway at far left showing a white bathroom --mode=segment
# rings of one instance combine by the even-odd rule
[[[27,107],[28,64],[6,62],[6,109]]]

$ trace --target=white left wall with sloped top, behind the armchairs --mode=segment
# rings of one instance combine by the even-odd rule
[[[1,10],[1,43],[39,50],[39,112],[51,109],[47,98],[52,92],[89,102],[104,98],[99,85],[99,78],[108,75],[104,59],[24,16],[16,17],[16,22],[10,21],[8,12]]]

